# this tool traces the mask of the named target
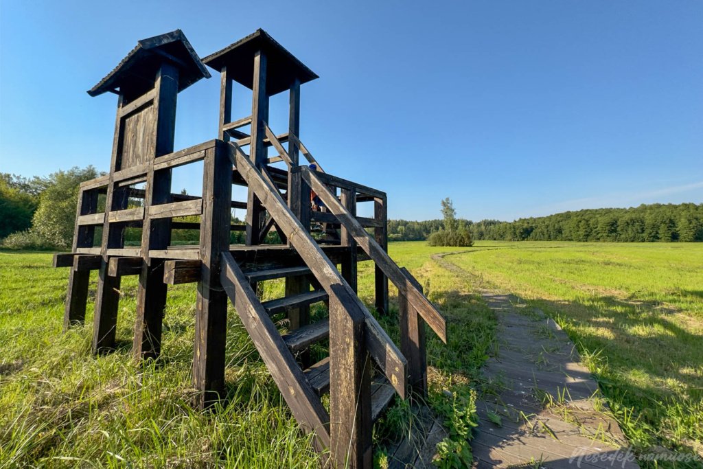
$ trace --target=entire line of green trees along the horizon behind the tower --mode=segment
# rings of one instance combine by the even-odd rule
[[[0,245],[6,248],[70,248],[79,184],[100,176],[94,167],[73,167],[47,177],[24,178],[0,173]],[[138,199],[130,199],[138,204]],[[104,196],[98,211],[104,207]],[[389,220],[391,241],[432,238],[439,245],[470,245],[472,240],[543,241],[703,241],[703,203],[652,204],[563,212],[516,221],[457,219],[451,200],[441,201],[444,219]],[[183,219],[181,221],[197,221]],[[232,219],[233,223],[240,223]],[[99,236],[99,229],[97,236]],[[173,243],[197,243],[198,232],[174,230]],[[273,236],[273,235],[272,235]],[[242,233],[233,232],[240,243]],[[138,245],[141,233],[128,229],[127,244]],[[274,242],[277,236],[273,236]]]

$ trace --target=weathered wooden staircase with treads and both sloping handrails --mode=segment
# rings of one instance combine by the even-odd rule
[[[269,138],[276,139],[272,132]],[[390,340],[309,230],[288,207],[266,169],[254,166],[237,143],[228,145],[236,172],[261,200],[266,212],[305,265],[243,271],[230,252],[222,252],[220,282],[293,415],[302,428],[315,432],[318,449],[330,449],[337,465],[370,467],[371,424],[389,405],[394,394],[405,399],[413,387],[416,392],[425,392],[426,384],[415,382],[412,386],[408,381],[408,357]],[[276,148],[282,160],[290,161],[282,147]],[[292,178],[293,184],[312,187],[316,191],[335,221],[396,285],[399,294],[407,299],[409,309],[417,311],[446,341],[444,318],[410,274],[390,259],[316,172],[293,165],[289,170],[297,175]],[[291,276],[308,276],[314,289],[261,302],[252,288],[252,283],[257,281]],[[272,316],[317,302],[328,303],[327,318],[281,335]],[[297,361],[297,354],[327,339],[330,342],[328,357],[315,364]],[[418,371],[418,368],[425,367],[424,352],[422,349],[409,353],[414,359],[411,375],[416,380],[418,375],[426,379],[425,370]],[[417,356],[418,353],[423,356]],[[370,359],[375,366],[371,365]],[[329,412],[320,400],[328,392]]]

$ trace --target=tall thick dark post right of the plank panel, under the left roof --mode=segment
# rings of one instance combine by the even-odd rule
[[[178,97],[179,71],[164,63],[157,72],[154,98],[155,155],[149,160],[146,179],[144,208],[171,202],[170,168],[154,170],[154,157],[167,155],[174,150],[176,131],[176,100]],[[137,292],[136,321],[132,352],[136,359],[155,359],[161,352],[161,330],[166,309],[167,285],[164,283],[163,261],[150,263],[149,250],[166,249],[171,242],[171,219],[144,218],[141,232],[143,258]]]

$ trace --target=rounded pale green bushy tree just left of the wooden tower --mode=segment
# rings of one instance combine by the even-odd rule
[[[39,197],[39,207],[32,218],[32,231],[57,248],[69,248],[76,221],[78,188],[82,182],[96,177],[98,172],[93,166],[72,167],[51,174]]]

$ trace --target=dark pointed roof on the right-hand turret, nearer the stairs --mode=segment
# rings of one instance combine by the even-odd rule
[[[253,89],[254,54],[266,53],[266,94],[273,96],[290,89],[297,78],[300,84],[319,78],[292,53],[285,50],[273,37],[262,29],[236,41],[224,49],[202,59],[208,67],[220,72],[227,67],[229,77],[248,89]]]

